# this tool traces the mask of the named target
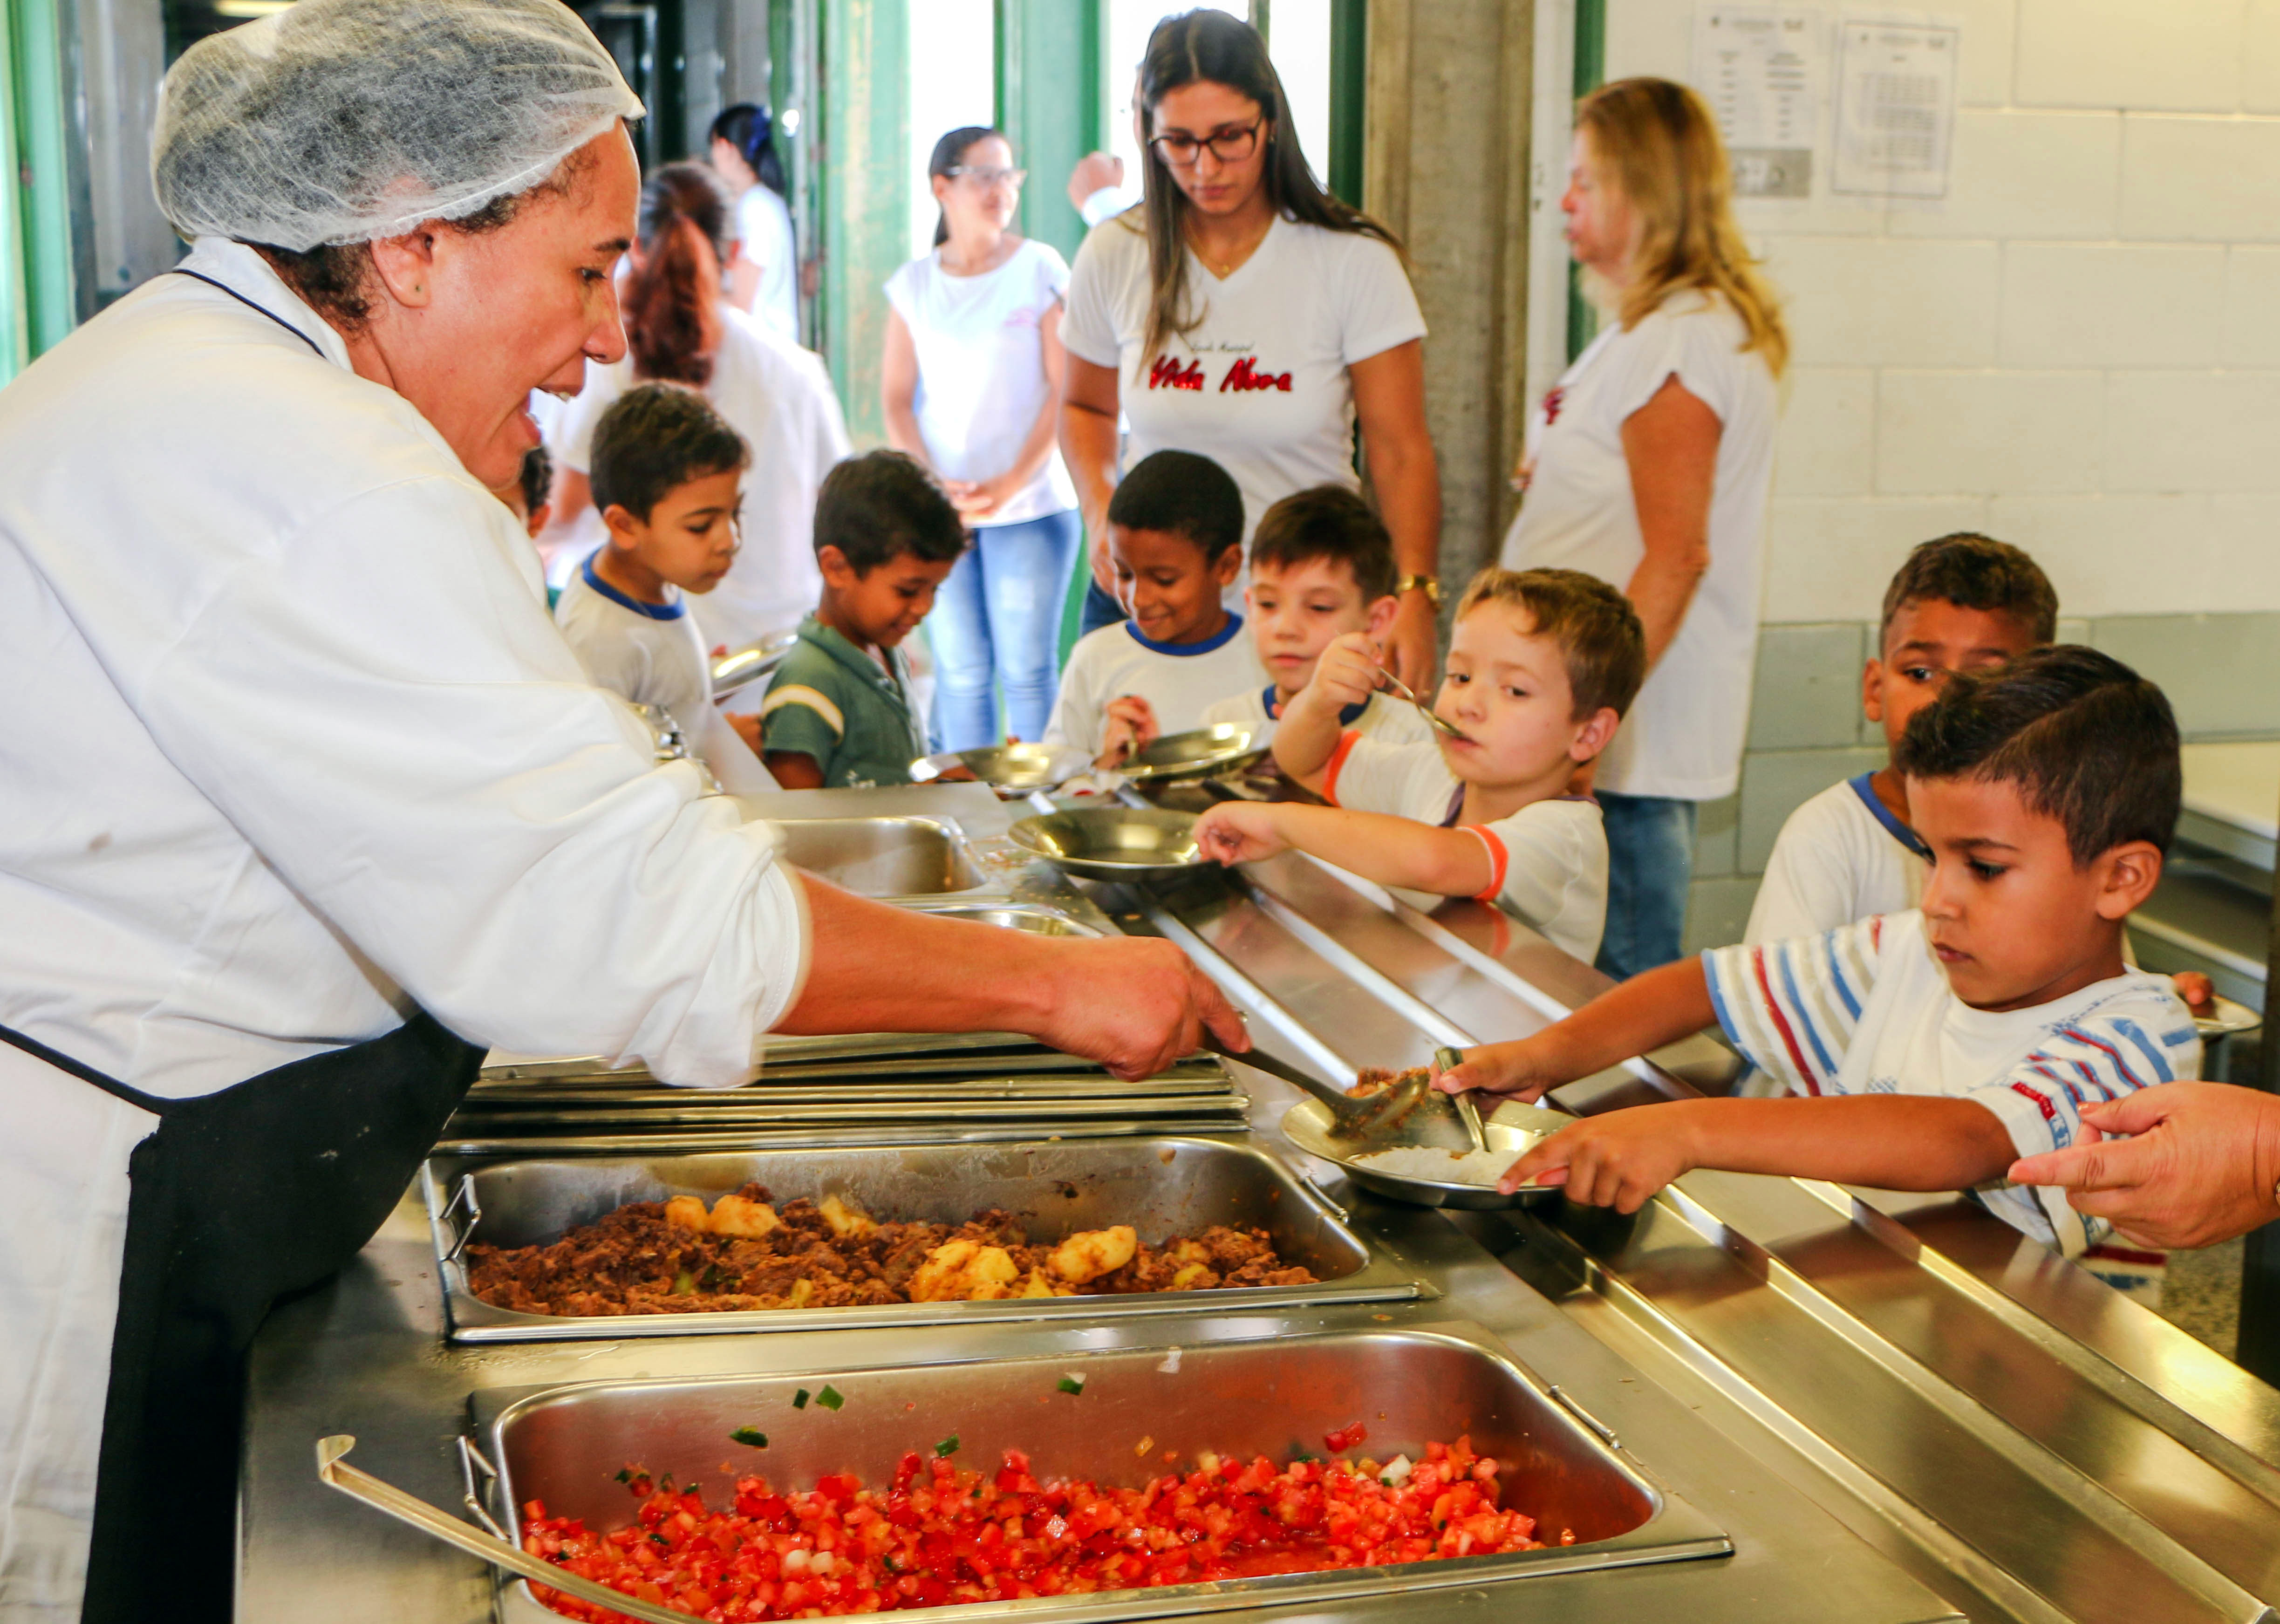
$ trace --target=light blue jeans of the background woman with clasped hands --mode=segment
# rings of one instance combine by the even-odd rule
[[[944,750],[999,741],[996,684],[1017,739],[1042,739],[1060,682],[1060,611],[1069,600],[1076,513],[987,525],[935,593],[935,734]],[[994,680],[994,682],[992,682]]]

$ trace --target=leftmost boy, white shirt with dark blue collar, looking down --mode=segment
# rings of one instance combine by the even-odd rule
[[[668,712],[723,789],[775,789],[759,718],[711,703],[711,659],[682,600],[718,586],[736,559],[743,436],[695,390],[641,383],[602,413],[591,463],[609,541],[554,604],[563,641],[595,687]]]

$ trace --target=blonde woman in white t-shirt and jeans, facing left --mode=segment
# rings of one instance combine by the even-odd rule
[[[1585,96],[1560,208],[1607,324],[1528,424],[1503,561],[1598,575],[1646,627],[1646,687],[1596,780],[1598,967],[1635,976],[1678,958],[1699,807],[1742,773],[1790,340],[1735,226],[1717,123],[1687,87]]]

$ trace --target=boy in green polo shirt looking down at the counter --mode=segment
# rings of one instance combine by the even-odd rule
[[[784,789],[907,785],[926,755],[910,709],[903,639],[935,607],[964,520],[919,463],[869,452],[839,463],[816,495],[823,602],[759,707],[762,757]]]

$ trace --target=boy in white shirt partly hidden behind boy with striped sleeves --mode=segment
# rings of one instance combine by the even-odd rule
[[[1883,593],[1860,707],[1897,750],[1908,718],[1952,673],[2000,666],[2057,634],[2059,593],[2025,552],[1970,531],[1927,541]],[[1908,826],[1908,787],[1888,760],[1790,812],[1742,940],[1785,942],[1904,912],[1929,871],[1931,853]]]

